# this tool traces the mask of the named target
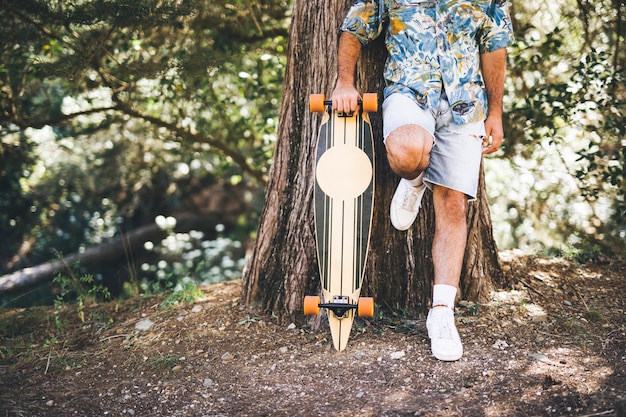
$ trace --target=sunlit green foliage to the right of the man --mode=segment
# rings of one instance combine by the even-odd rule
[[[487,161],[500,247],[624,253],[626,22],[613,6],[515,5],[508,160]]]

